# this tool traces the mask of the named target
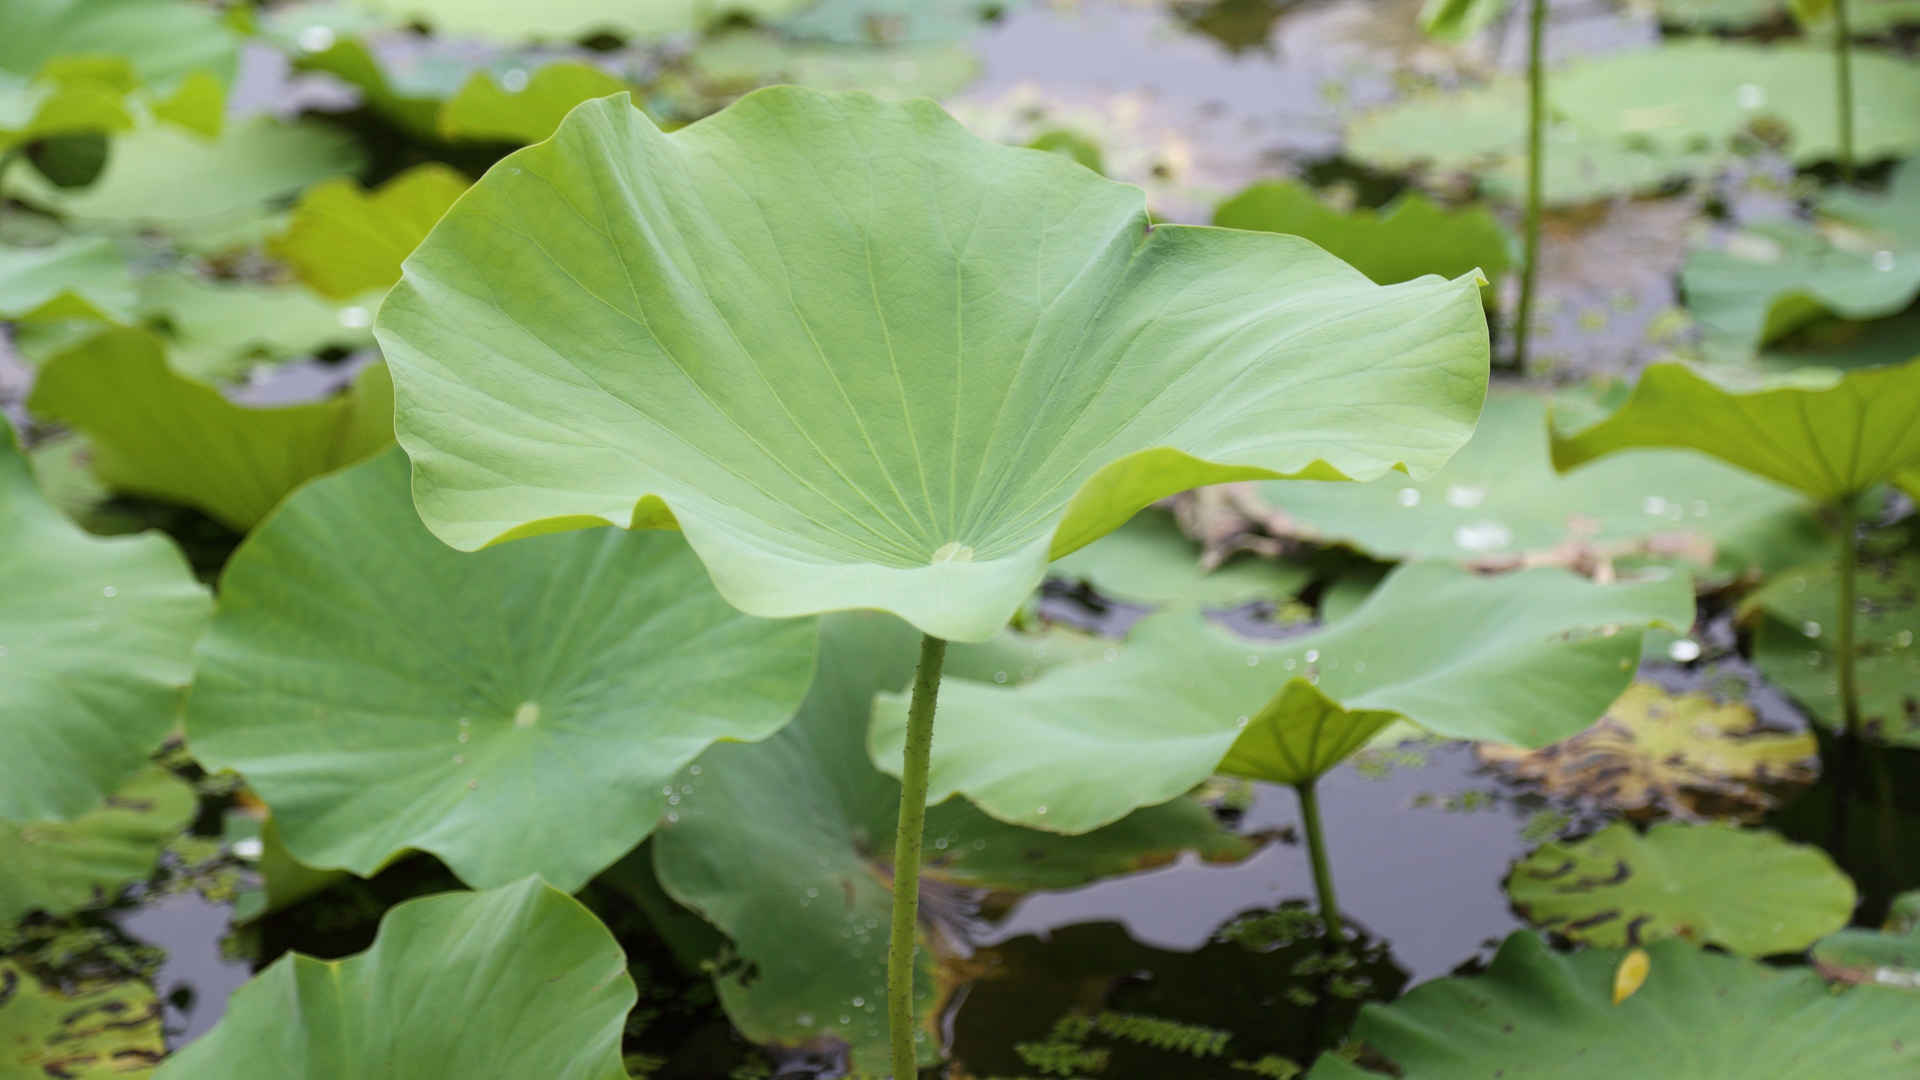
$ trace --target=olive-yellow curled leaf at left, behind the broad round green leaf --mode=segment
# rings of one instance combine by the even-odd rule
[[[86,432],[94,475],[113,490],[244,532],[296,486],[388,446],[390,402],[372,365],[340,398],[250,409],[173,371],[154,334],[113,329],[48,361],[29,407]]]

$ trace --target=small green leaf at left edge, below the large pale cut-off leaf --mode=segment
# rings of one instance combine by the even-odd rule
[[[73,821],[0,821],[0,922],[109,903],[194,821],[194,790],[152,767]]]

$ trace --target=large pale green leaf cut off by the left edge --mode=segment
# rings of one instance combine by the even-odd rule
[[[100,540],[0,421],[0,821],[88,813],[173,728],[207,590],[159,534]]]

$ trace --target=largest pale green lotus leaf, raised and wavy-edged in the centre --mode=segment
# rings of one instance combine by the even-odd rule
[[[1148,229],[929,102],[774,88],[674,135],[580,106],[374,332],[444,540],[678,521],[747,611],[985,640],[1158,496],[1440,465],[1484,392],[1476,281]]]

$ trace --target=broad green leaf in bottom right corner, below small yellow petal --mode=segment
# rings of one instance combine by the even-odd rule
[[[1920,1001],[1870,986],[1834,994],[1811,970],[1655,942],[1640,990],[1613,1003],[1620,949],[1563,955],[1513,934],[1486,974],[1440,978],[1367,1005],[1354,1038],[1419,1080],[1832,1080],[1920,1068]],[[1327,1055],[1311,1080],[1377,1080]]]

